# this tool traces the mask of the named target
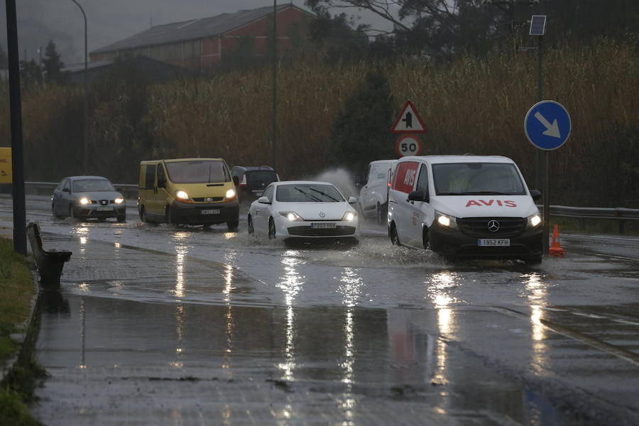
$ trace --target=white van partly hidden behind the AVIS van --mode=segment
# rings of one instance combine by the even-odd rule
[[[398,160],[376,160],[368,163],[366,178],[361,182],[359,208],[364,217],[375,217],[378,224],[386,224],[388,212],[388,182]]]

